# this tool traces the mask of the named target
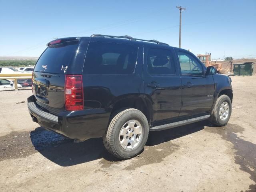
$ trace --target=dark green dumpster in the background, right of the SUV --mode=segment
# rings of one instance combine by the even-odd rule
[[[243,64],[234,64],[234,76],[239,75],[253,75],[254,72],[254,62],[246,62]]]

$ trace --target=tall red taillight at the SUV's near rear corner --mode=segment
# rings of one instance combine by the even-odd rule
[[[84,109],[84,92],[82,75],[66,75],[65,107],[68,111]]]

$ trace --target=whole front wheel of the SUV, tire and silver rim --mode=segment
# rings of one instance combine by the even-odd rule
[[[232,112],[232,103],[227,95],[218,97],[212,110],[210,122],[216,126],[224,126],[228,123]]]

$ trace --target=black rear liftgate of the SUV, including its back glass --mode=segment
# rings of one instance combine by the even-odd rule
[[[65,76],[77,74],[82,68],[72,66],[78,58],[80,62],[83,60],[81,55],[84,58],[84,53],[78,50],[79,40],[63,38],[50,42],[36,63],[32,78],[33,95],[38,106],[47,112],[58,115],[65,110]]]

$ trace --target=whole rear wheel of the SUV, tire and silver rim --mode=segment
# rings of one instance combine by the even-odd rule
[[[119,159],[136,156],[148,139],[148,120],[137,109],[116,113],[103,136],[105,148]]]

